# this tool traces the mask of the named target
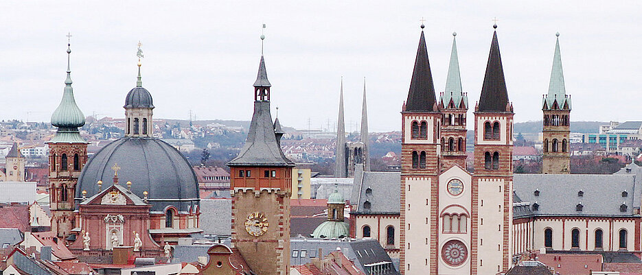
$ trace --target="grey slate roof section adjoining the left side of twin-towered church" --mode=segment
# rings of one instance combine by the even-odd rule
[[[350,204],[357,206],[354,213],[399,214],[400,184],[400,172],[363,171],[357,165],[350,199]],[[370,203],[370,208],[364,208],[365,202]]]

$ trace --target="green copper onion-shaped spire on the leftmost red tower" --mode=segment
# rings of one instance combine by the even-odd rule
[[[67,38],[71,40],[71,34],[67,34]],[[60,105],[51,114],[51,125],[58,127],[58,132],[51,143],[84,143],[84,139],[80,136],[78,128],[84,125],[84,115],[78,105],[76,99],[73,98],[73,88],[71,88],[71,41],[67,43],[67,79],[65,79],[65,89],[62,91],[62,99]]]

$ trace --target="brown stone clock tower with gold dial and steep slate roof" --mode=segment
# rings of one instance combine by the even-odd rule
[[[290,272],[292,168],[270,115],[270,88],[263,56],[254,82],[254,114],[247,141],[230,167],[232,242],[257,274]],[[280,138],[280,134],[279,134]]]

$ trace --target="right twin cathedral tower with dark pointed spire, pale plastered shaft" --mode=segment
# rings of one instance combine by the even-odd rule
[[[474,112],[471,274],[506,272],[511,264],[513,115],[495,31]]]

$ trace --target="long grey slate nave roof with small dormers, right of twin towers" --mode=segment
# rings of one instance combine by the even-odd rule
[[[635,176],[619,174],[514,174],[513,188],[524,202],[538,204],[539,210],[533,211],[536,216],[630,217],[639,208],[641,195],[641,182]],[[622,197],[623,191],[627,197]],[[580,203],[583,209],[576,211]],[[627,210],[620,212],[623,203]]]

